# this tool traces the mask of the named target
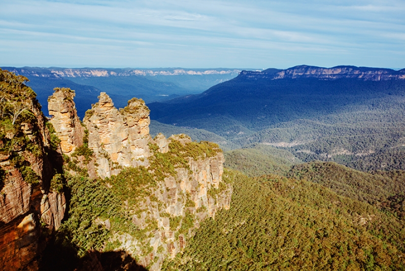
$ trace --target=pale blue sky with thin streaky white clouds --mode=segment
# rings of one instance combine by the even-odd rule
[[[405,1],[0,0],[0,66],[405,67]]]

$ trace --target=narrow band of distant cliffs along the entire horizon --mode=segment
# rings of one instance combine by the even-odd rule
[[[63,67],[2,67],[13,73],[23,76],[49,77],[49,78],[76,78],[76,77],[127,77],[127,76],[201,76],[201,75],[240,75],[245,78],[298,79],[317,78],[333,80],[340,78],[355,78],[366,81],[380,81],[391,79],[405,79],[405,69],[395,71],[381,67],[357,67],[340,65],[334,67],[318,67],[298,65],[288,69],[270,68],[264,71],[242,71],[240,69],[184,69],[176,68],[63,68]]]

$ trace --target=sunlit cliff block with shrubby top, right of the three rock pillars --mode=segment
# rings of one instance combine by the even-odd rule
[[[140,177],[149,179],[147,183],[133,180],[127,171],[106,179],[113,191],[143,191],[122,197],[138,231],[113,231],[109,243],[119,244],[117,249],[136,256],[150,270],[160,270],[167,257],[181,252],[201,221],[229,209],[232,193],[231,185],[222,181],[224,156],[218,146],[191,142],[183,134],[167,141],[165,153],[156,144],[151,146],[149,174]]]

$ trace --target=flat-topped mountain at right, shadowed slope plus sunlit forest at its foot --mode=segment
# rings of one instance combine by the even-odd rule
[[[354,66],[243,71],[201,94],[148,106],[153,120],[240,147],[261,143],[306,162],[405,170],[404,79],[405,70]],[[258,165],[252,157],[261,153],[243,151],[238,157]]]

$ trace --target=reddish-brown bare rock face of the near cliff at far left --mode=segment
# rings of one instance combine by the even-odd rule
[[[45,118],[36,103],[29,108],[35,119],[21,123],[20,129],[0,142],[5,144],[16,137],[27,139],[27,143],[15,144],[9,154],[0,157],[0,270],[5,271],[37,269],[36,259],[45,241],[40,240],[44,230],[41,223],[49,231],[57,229],[66,208],[63,193],[50,191],[56,161],[47,156],[51,151]],[[24,164],[11,157],[21,157]],[[24,179],[23,166],[32,170],[30,174],[36,176],[36,181]]]

